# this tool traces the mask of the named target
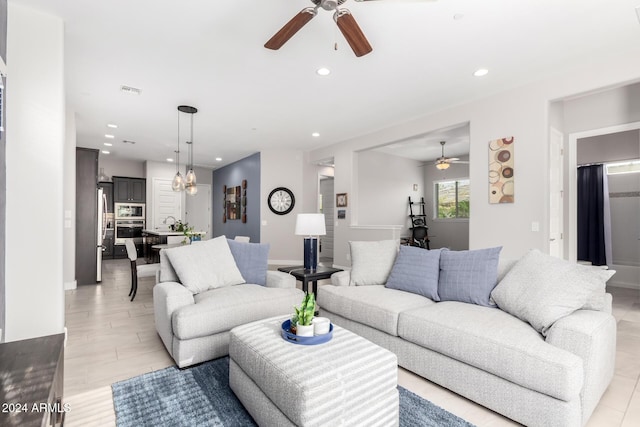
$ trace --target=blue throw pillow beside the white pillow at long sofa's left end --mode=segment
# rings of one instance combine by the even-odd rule
[[[400,246],[385,286],[440,301],[439,270],[440,249],[429,251],[415,246]]]

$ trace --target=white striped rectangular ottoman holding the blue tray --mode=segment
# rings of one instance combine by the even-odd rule
[[[334,325],[305,346],[282,339],[286,318],[231,330],[229,383],[260,426],[397,426],[396,355]]]

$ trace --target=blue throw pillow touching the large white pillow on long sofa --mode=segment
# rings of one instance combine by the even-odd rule
[[[498,281],[501,249],[502,246],[472,251],[443,250],[438,280],[440,299],[495,307],[489,299]]]

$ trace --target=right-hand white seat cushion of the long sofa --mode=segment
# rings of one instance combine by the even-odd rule
[[[578,398],[582,359],[496,308],[445,301],[400,314],[410,342],[564,401]]]

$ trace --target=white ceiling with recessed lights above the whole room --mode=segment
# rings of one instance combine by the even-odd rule
[[[279,51],[263,47],[309,0],[15,3],[65,22],[79,146],[104,148],[116,123],[111,156],[165,161],[176,149],[176,107],[187,104],[199,109],[195,163],[209,167],[260,149],[334,144],[640,42],[640,0],[349,0],[373,46],[361,58],[324,10]],[[322,66],[332,73],[316,75]],[[481,67],[489,74],[473,77]]]

